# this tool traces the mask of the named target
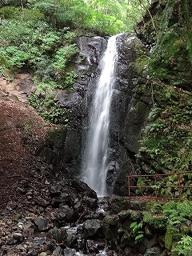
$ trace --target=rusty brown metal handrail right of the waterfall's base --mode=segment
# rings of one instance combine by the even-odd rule
[[[184,186],[182,185],[182,178],[181,175],[182,174],[192,174],[192,171],[186,171],[186,172],[181,172],[181,173],[169,173],[169,174],[134,174],[134,175],[128,175],[127,176],[127,183],[128,183],[128,196],[129,198],[131,197],[130,195],[130,189],[131,188],[152,188],[152,186],[154,186],[154,198],[157,199],[168,199],[168,200],[179,200],[182,201],[182,188],[191,188],[192,186]],[[170,176],[170,175],[177,175],[178,176],[178,185],[173,185],[173,186],[161,186],[161,188],[166,188],[166,187],[178,187],[178,192],[179,192],[179,198],[160,198],[158,197],[158,177],[161,176]],[[145,178],[149,178],[149,177],[153,177],[154,178],[154,185],[147,185],[147,186],[130,186],[130,179],[131,178],[140,178],[140,177],[145,177]]]

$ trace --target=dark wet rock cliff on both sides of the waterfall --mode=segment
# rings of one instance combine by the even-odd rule
[[[57,166],[66,170],[70,177],[77,176],[81,169],[84,129],[99,73],[98,62],[106,43],[107,38],[78,39],[80,54],[74,63],[78,80],[73,90],[60,91],[56,97],[58,103],[68,108],[70,113],[70,127],[62,128],[57,136],[53,134],[54,147],[58,150]],[[126,175],[134,173],[134,154],[138,153],[142,128],[151,106],[150,87],[141,89],[147,77],[142,78],[134,67],[141,54],[147,54],[147,50],[135,34],[119,35],[110,113],[110,168],[106,181],[109,187],[115,183],[114,193],[117,194],[127,194]]]

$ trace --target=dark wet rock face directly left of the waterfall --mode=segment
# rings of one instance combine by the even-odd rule
[[[78,73],[72,90],[59,91],[56,101],[67,109],[68,125],[51,134],[58,152],[56,166],[69,177],[77,176],[81,170],[83,126],[88,115],[88,102],[93,90],[90,83],[96,78],[98,62],[106,49],[107,39],[81,37],[77,39],[79,55],[74,59],[73,70]]]

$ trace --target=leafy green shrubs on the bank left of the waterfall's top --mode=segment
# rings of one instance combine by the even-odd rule
[[[69,68],[78,53],[77,46],[69,44],[75,34],[66,27],[60,31],[51,28],[37,8],[6,6],[0,15],[0,71],[10,78],[9,70],[33,68],[38,86],[29,103],[47,122],[66,125],[66,110],[54,102],[54,90],[71,87],[77,78]]]

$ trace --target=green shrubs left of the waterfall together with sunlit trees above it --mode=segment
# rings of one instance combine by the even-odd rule
[[[34,70],[37,88],[29,103],[48,122],[66,124],[55,90],[70,90],[78,74],[70,62],[80,35],[133,30],[147,1],[4,0],[0,3],[0,72],[9,80],[19,69]]]

